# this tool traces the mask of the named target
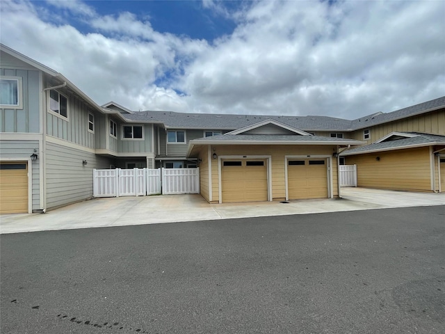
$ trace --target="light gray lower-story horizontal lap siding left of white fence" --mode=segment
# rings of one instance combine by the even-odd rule
[[[92,197],[92,170],[106,169],[110,160],[86,150],[47,143],[47,209]],[[86,160],[84,166],[82,161]]]

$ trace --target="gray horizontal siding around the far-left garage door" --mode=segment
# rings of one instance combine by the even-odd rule
[[[39,152],[38,141],[0,141],[0,159],[28,160],[34,150]],[[32,161],[32,164],[32,207],[33,210],[38,210],[42,209],[40,207],[40,159]]]

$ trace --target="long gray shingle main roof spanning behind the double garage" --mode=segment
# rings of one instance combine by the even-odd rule
[[[363,129],[440,108],[445,108],[445,96],[391,113],[378,113],[357,118],[356,120],[345,120],[327,116],[233,115],[216,113],[175,113],[173,111],[136,111],[133,114],[124,114],[124,117],[133,121],[163,122],[165,127],[170,129],[234,130],[253,125],[262,120],[272,119],[305,131],[321,130],[340,132]]]

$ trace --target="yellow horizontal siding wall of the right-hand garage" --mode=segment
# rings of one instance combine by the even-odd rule
[[[346,157],[346,163],[357,165],[358,186],[408,191],[432,190],[429,148],[358,154]]]

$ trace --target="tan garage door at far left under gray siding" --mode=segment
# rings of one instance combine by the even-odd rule
[[[0,163],[0,213],[28,212],[28,168],[26,163]]]

